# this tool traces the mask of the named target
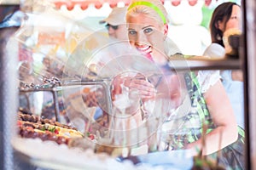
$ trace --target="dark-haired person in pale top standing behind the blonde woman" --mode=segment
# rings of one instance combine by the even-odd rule
[[[224,32],[231,29],[241,30],[241,7],[236,3],[222,3],[212,13],[210,31],[212,44],[206,49],[203,56],[210,58],[224,58]],[[221,71],[224,88],[236,115],[236,122],[244,127],[244,101],[242,71]]]

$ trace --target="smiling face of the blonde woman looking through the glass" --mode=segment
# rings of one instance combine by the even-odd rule
[[[165,53],[164,40],[167,34],[165,26],[161,27],[159,22],[145,14],[130,16],[127,18],[127,23],[131,45],[141,54],[152,56],[154,61],[162,58]]]

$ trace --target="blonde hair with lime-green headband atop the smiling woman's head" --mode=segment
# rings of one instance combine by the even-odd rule
[[[156,20],[160,26],[169,22],[166,8],[160,0],[131,0],[127,10],[126,20],[130,16],[135,17],[137,14],[144,14]]]

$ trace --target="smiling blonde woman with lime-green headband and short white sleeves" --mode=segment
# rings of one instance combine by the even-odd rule
[[[126,14],[126,21],[131,46],[137,48],[141,54],[157,65],[166,65],[169,59],[172,59],[172,54],[170,54],[172,47],[168,46],[167,38],[168,15],[160,0],[131,1]],[[167,80],[172,79],[170,88],[172,88],[175,79],[178,81],[176,76],[166,77]],[[238,133],[234,111],[220,81],[219,72],[188,71],[179,78],[187,80],[185,81],[186,86],[191,93],[189,96],[195,105],[192,105],[192,102],[191,105],[177,102],[179,107],[188,110],[184,109],[183,111],[186,112],[183,113],[183,116],[175,120],[177,123],[182,123],[178,128],[173,129],[173,132],[186,129],[188,133],[173,134],[168,141],[169,147],[172,149],[200,149],[205,156],[216,156],[218,150],[221,150],[220,163],[226,167],[243,169],[242,137]],[[130,82],[129,88],[139,89],[142,99],[148,99],[155,91],[152,89],[152,85],[148,83],[150,82],[135,80]],[[171,93],[168,95],[171,96],[172,100],[180,99],[181,92],[171,90]],[[208,122],[208,129],[205,136],[206,146],[202,147],[203,139],[201,136],[203,135],[204,121]],[[190,122],[201,122],[201,126],[186,127],[186,125],[191,125]],[[169,128],[172,132],[172,127]],[[222,139],[221,144],[220,139]]]

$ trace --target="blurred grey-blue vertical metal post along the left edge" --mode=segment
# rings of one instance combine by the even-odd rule
[[[15,169],[11,139],[15,134],[15,112],[17,94],[15,63],[17,63],[17,44],[13,44],[12,54],[7,43],[17,27],[0,28],[0,169]]]

